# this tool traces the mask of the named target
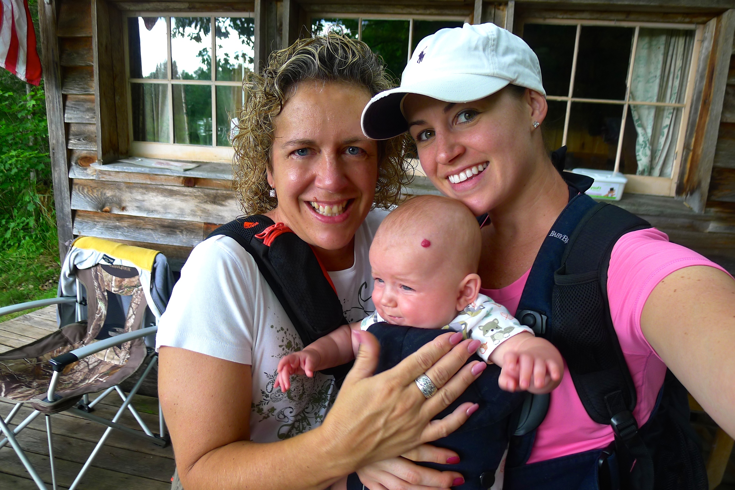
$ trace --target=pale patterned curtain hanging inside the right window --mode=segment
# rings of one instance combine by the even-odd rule
[[[682,104],[693,44],[692,31],[640,29],[631,101]],[[671,176],[681,113],[677,107],[631,105],[638,175]]]

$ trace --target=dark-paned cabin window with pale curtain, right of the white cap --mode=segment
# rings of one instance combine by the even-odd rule
[[[671,178],[691,98],[696,26],[600,24],[523,26],[547,91],[545,141],[567,145],[567,168]]]

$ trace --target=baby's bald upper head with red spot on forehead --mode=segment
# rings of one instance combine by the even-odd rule
[[[385,217],[373,239],[376,251],[407,248],[420,256],[417,263],[437,272],[449,267],[462,277],[477,272],[480,247],[480,227],[470,209],[439,195],[405,201]]]

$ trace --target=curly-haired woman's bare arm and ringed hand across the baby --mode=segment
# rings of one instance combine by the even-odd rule
[[[249,366],[162,347],[159,392],[184,488],[324,489],[359,467],[445,436],[467,420],[470,403],[441,421],[431,418],[478,377],[478,364],[484,367],[477,362],[462,367],[471,354],[469,341],[457,345],[456,334],[445,334],[372,376],[379,346],[370,334],[361,337],[355,367],[323,425],[270,444],[248,441]],[[442,386],[430,400],[413,383],[424,371]]]

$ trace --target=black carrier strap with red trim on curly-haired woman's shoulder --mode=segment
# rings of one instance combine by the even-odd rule
[[[283,223],[273,223],[264,215],[238,217],[212,231],[209,237],[216,235],[234,239],[250,253],[304,347],[347,325],[329,273],[311,246]],[[340,380],[350,367],[344,364],[325,372]]]

